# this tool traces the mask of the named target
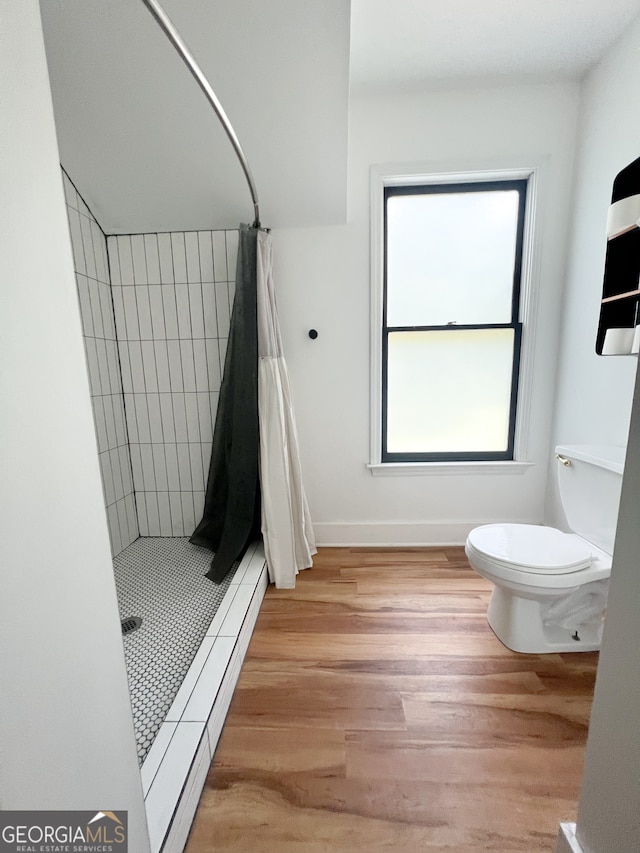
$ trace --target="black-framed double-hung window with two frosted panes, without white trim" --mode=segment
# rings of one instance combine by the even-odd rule
[[[514,459],[526,190],[384,187],[383,463]]]

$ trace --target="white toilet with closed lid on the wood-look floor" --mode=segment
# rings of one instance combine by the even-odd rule
[[[556,447],[562,506],[572,533],[533,524],[485,524],[465,551],[495,586],[487,619],[516,652],[600,648],[625,450]]]

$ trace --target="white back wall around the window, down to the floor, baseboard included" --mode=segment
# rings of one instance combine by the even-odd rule
[[[543,515],[578,87],[439,91],[352,101],[349,222],[275,233],[278,304],[319,542],[464,541]],[[369,460],[369,175],[373,164],[468,169],[543,162],[540,301],[523,475],[374,478]],[[319,337],[311,341],[310,328]]]

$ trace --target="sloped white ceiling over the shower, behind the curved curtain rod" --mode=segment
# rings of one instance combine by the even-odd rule
[[[161,0],[229,116],[265,225],[346,217],[349,0]],[[244,175],[140,0],[41,0],[60,156],[107,233],[237,227]]]

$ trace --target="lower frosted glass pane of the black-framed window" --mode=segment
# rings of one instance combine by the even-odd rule
[[[387,452],[504,452],[513,329],[391,332]]]

